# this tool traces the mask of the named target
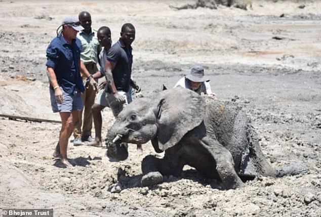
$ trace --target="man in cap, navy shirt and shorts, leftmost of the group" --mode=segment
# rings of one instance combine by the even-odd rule
[[[54,152],[60,161],[55,165],[65,168],[71,165],[67,158],[68,139],[78,120],[79,111],[83,109],[81,93],[85,88],[80,71],[87,75],[91,85],[96,87],[97,83],[80,60],[82,45],[76,35],[84,28],[73,16],[66,17],[61,26],[62,31],[47,48],[46,66],[52,110],[59,112],[61,117],[59,142]]]

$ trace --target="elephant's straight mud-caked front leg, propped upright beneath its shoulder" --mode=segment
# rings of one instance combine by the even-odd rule
[[[202,139],[203,146],[213,155],[216,161],[216,170],[227,189],[244,187],[244,183],[237,176],[234,169],[234,160],[231,153],[218,141],[208,137]]]

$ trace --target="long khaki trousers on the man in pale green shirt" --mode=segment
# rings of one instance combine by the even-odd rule
[[[85,66],[90,74],[94,74],[98,71],[97,65],[94,63],[87,64]],[[86,79],[86,77],[83,77],[84,82]],[[73,131],[74,138],[86,138],[91,136],[91,131],[93,128],[92,106],[95,102],[96,92],[90,84],[85,86],[85,92],[82,94],[82,97],[84,109],[79,113],[79,119]]]

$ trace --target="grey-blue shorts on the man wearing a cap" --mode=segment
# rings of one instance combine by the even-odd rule
[[[82,93],[77,92],[74,95],[67,94],[64,92],[62,88],[60,88],[64,101],[62,104],[58,104],[55,98],[55,91],[50,88],[50,101],[51,108],[53,112],[72,112],[72,111],[80,111],[84,108]]]

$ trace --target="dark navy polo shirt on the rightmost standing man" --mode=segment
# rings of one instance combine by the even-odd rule
[[[117,91],[129,91],[133,64],[132,50],[132,47],[127,49],[119,39],[108,51],[107,60],[115,63],[111,72]],[[108,85],[107,92],[111,93]]]

